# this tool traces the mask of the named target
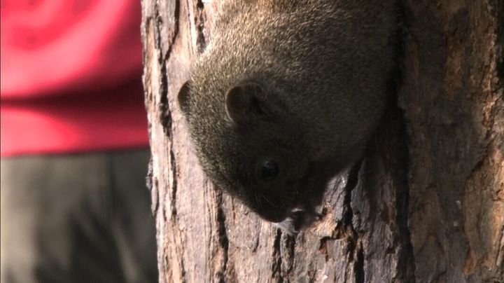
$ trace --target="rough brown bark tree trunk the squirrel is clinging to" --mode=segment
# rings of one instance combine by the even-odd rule
[[[384,122],[297,236],[214,191],[176,106],[217,2],[142,1],[160,282],[504,282],[503,1],[405,0]]]

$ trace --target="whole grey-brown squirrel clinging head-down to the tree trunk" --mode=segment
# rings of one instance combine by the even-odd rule
[[[297,233],[356,163],[395,67],[395,0],[225,0],[178,104],[207,176]],[[317,208],[318,207],[318,208]]]

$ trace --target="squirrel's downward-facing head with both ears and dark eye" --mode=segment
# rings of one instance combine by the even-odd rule
[[[299,118],[277,91],[257,81],[227,90],[188,81],[178,97],[207,176],[272,222],[283,221],[293,209],[309,167]]]

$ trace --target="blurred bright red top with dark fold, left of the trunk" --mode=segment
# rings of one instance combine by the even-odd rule
[[[138,0],[1,0],[1,155],[146,146]]]

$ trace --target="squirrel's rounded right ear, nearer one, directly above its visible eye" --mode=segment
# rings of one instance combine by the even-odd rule
[[[265,114],[265,91],[258,83],[235,85],[225,95],[225,109],[235,123]]]

